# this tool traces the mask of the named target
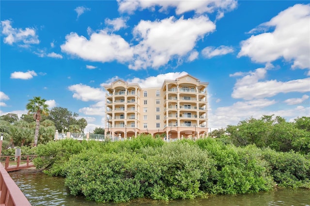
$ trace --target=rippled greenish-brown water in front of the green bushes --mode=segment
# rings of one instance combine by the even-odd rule
[[[246,195],[215,195],[207,199],[176,200],[169,203],[137,200],[129,203],[95,203],[70,195],[64,179],[48,177],[36,170],[9,173],[32,206],[310,206],[310,190],[278,189]]]

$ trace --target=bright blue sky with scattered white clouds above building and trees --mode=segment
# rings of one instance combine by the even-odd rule
[[[310,116],[310,1],[0,1],[0,115],[49,108],[104,127],[117,79],[209,82],[209,128]]]

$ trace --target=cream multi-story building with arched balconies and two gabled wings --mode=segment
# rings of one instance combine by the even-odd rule
[[[105,131],[129,138],[140,133],[166,138],[208,135],[207,82],[186,74],[161,88],[141,88],[117,80],[106,89]]]

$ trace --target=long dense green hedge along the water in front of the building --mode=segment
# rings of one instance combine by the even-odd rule
[[[234,147],[215,139],[165,143],[61,140],[39,145],[36,166],[66,177],[73,195],[97,202],[193,199],[281,187],[310,188],[310,160],[294,152]]]

